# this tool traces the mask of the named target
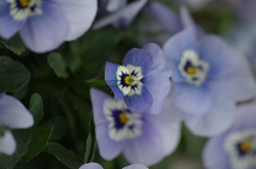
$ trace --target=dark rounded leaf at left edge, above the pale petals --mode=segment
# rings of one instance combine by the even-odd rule
[[[22,63],[0,57],[0,93],[14,92],[28,83],[30,73]]]

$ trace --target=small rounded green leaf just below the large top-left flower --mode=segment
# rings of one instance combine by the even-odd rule
[[[48,54],[47,61],[58,77],[62,77],[63,79],[69,77],[69,73],[67,73],[67,65],[60,53],[52,52]]]

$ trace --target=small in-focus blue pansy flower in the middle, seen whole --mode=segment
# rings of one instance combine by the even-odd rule
[[[134,112],[157,114],[170,90],[170,64],[156,44],[131,49],[123,58],[123,66],[106,63],[105,80],[114,99],[124,97]]]

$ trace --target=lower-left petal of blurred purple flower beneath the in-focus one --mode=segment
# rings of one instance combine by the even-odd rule
[[[95,126],[96,139],[99,146],[100,156],[106,160],[112,160],[120,154],[125,141],[117,142],[109,137],[108,124]]]

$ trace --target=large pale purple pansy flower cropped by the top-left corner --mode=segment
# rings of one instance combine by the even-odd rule
[[[82,36],[96,10],[97,0],[0,0],[0,36],[19,32],[28,49],[44,53]]]

